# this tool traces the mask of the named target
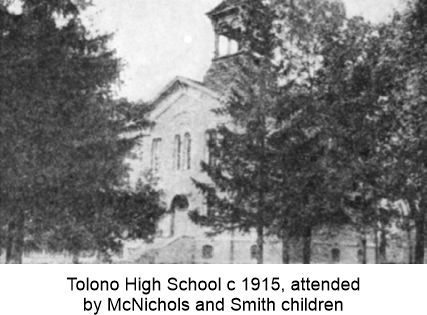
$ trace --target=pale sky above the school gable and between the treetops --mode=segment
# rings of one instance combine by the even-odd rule
[[[385,21],[404,0],[344,0],[349,16]],[[202,80],[213,56],[206,12],[221,0],[94,0],[86,12],[93,31],[114,33],[110,46],[123,61],[118,96],[152,99],[180,75]]]

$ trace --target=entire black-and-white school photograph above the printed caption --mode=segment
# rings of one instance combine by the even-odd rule
[[[0,0],[0,263],[427,262],[427,0]]]

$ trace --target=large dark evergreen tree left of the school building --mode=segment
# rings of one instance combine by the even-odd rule
[[[81,23],[88,4],[26,0],[20,15],[2,11],[9,21],[0,25],[0,207],[8,262],[22,262],[26,244],[65,249],[76,259],[88,249],[117,251],[121,223],[129,224],[117,220],[127,215],[117,211],[123,160],[136,137],[123,133],[141,126],[129,121],[129,104],[112,101],[120,62],[107,46],[111,36],[93,36]],[[147,197],[147,204],[158,197],[131,195]]]

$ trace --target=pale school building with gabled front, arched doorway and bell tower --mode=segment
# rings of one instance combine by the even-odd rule
[[[206,213],[206,200],[193,180],[209,181],[201,162],[209,162],[208,141],[211,131],[225,123],[213,112],[221,107],[222,97],[236,76],[236,63],[244,58],[245,43],[239,39],[239,16],[244,1],[226,0],[208,13],[215,30],[215,52],[203,82],[177,77],[154,99],[147,130],[133,163],[134,180],[151,174],[163,192],[168,209],[158,224],[153,243],[127,244],[123,260],[141,263],[255,263],[255,233],[223,233],[209,237],[209,229],[194,224],[188,212]],[[390,252],[390,260],[407,260],[405,245]],[[282,245],[267,239],[265,263],[281,263]],[[315,263],[358,263],[361,243],[350,229],[313,235],[312,261]],[[375,246],[368,240],[367,259],[375,262]],[[291,262],[302,261],[301,246],[291,246]]]

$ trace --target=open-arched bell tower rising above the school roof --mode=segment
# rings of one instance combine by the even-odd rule
[[[215,49],[203,83],[226,93],[236,77],[239,63],[243,61],[245,3],[247,0],[224,0],[207,13],[215,33]]]

